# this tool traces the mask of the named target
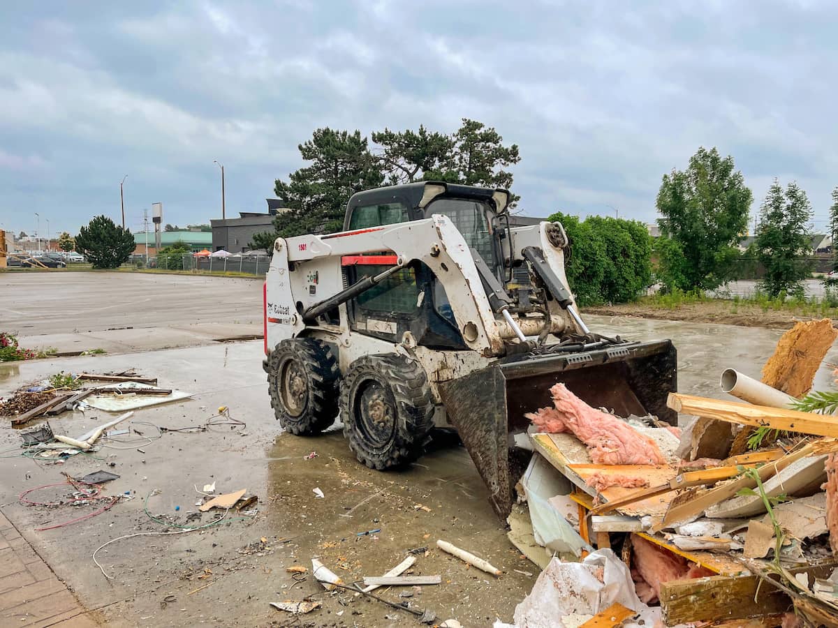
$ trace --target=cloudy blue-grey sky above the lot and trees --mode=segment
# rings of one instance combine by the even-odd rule
[[[735,157],[754,211],[797,180],[822,229],[836,24],[808,0],[2,3],[0,227],[119,219],[125,175],[133,230],[156,201],[208,222],[216,159],[228,215],[263,211],[318,126],[471,117],[520,146],[525,214],[649,222],[662,174],[704,145]]]

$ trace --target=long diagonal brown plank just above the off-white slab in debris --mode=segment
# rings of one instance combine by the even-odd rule
[[[830,448],[838,449],[838,440],[825,439],[807,443],[794,453],[783,456],[779,461],[768,462],[760,466],[758,469],[760,481],[764,482],[768,480],[769,477],[783,471],[787,466],[799,461],[801,458],[826,453],[825,450]],[[685,522],[692,517],[700,515],[707,508],[719,502],[724,502],[726,499],[730,499],[743,488],[753,488],[754,486],[757,486],[757,482],[752,477],[742,475],[735,480],[722,484],[722,486],[716,486],[709,491],[701,492],[687,502],[670,506],[663,521],[656,523],[652,527],[652,531],[660,532],[660,530],[670,528],[675,523]]]

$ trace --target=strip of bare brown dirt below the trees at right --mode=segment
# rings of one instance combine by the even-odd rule
[[[586,307],[583,311],[613,317],[654,318],[663,321],[713,322],[743,327],[789,329],[799,321],[815,318],[794,311],[765,310],[758,305],[734,304],[732,301],[701,301],[675,307],[651,306],[642,302],[621,303],[613,306]],[[833,321],[835,322],[835,321]]]

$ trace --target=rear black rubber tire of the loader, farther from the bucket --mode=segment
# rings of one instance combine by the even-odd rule
[[[328,344],[315,338],[283,340],[266,358],[264,368],[273,413],[284,430],[311,436],[334,423],[340,371]],[[287,373],[295,376],[296,393],[283,389]]]

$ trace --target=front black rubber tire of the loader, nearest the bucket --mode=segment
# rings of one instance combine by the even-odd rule
[[[344,436],[358,461],[371,469],[405,466],[421,456],[433,427],[433,409],[425,369],[395,353],[355,360],[341,384]]]

